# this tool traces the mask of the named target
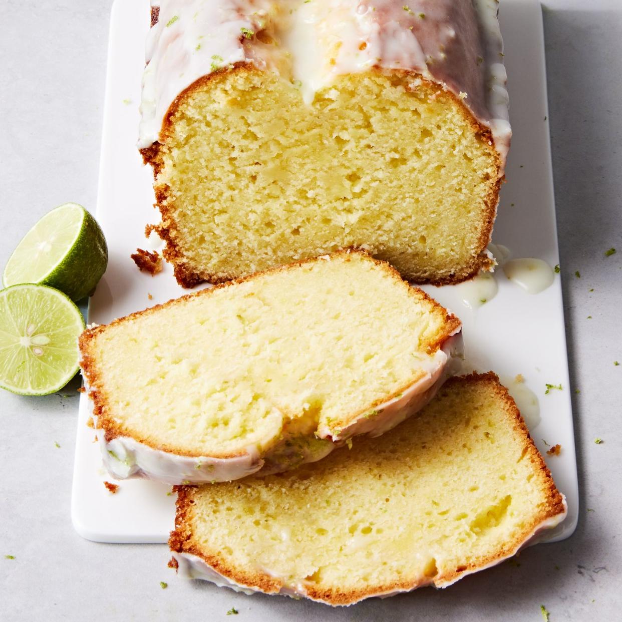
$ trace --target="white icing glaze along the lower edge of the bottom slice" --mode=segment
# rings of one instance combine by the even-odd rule
[[[562,503],[564,504],[564,511],[561,514],[557,514],[557,516],[552,516],[551,518],[547,518],[545,519],[545,521],[542,521],[539,525],[535,527],[531,534],[529,534],[529,536],[524,539],[524,541],[520,542],[516,547],[514,547],[513,550],[508,552],[507,555],[504,555],[503,557],[500,557],[499,559],[490,562],[490,564],[483,565],[473,570],[466,570],[465,572],[461,572],[458,577],[455,577],[450,581],[441,580],[439,582],[434,582],[434,580],[429,577],[421,577],[420,581],[417,582],[417,585],[414,588],[391,590],[391,592],[384,593],[379,592],[369,596],[380,596],[381,598],[388,598],[389,596],[395,596],[400,593],[412,592],[412,590],[418,587],[424,587],[425,585],[434,585],[434,587],[437,588],[446,588],[450,585],[453,585],[453,583],[457,582],[461,578],[466,577],[466,575],[471,575],[475,572],[480,572],[480,570],[486,570],[488,568],[496,566],[497,564],[501,564],[501,562],[504,562],[506,559],[509,559],[510,557],[516,555],[519,550],[537,544],[537,542],[541,541],[544,532],[548,529],[557,527],[557,525],[559,525],[560,522],[562,522],[566,518],[566,515],[568,513],[568,506],[564,494],[562,494]],[[202,557],[198,557],[197,555],[192,555],[190,553],[173,552],[173,557],[175,558],[175,560],[177,560],[177,564],[179,564],[177,572],[179,572],[180,575],[182,575],[182,577],[184,578],[202,579],[205,581],[210,581],[211,583],[215,583],[215,585],[218,585],[218,587],[229,587],[236,592],[244,592],[246,594],[261,592],[261,590],[259,590],[258,588],[254,588],[248,585],[240,585],[239,583],[232,581],[230,578],[221,575],[219,572],[216,572],[216,570],[214,570],[209,564],[207,564],[207,562],[205,562]],[[428,557],[435,557],[437,563],[439,563],[439,560],[442,559],[442,556],[435,552],[430,552]],[[307,590],[305,589],[304,583],[297,582],[292,585],[290,583],[287,583],[285,577],[279,577],[279,575],[276,575],[275,573],[272,573],[266,569],[261,570],[271,575],[272,577],[281,580],[282,587],[281,590],[279,590],[278,592],[279,594],[293,596],[294,598],[296,596],[311,598],[307,593]],[[363,598],[369,598],[369,596],[364,596]],[[361,598],[360,600],[363,600],[363,598]],[[312,598],[311,600],[318,599]]]

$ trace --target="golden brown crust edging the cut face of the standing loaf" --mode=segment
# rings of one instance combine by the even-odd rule
[[[466,106],[463,100],[461,100],[458,96],[454,95],[451,91],[445,90],[439,84],[427,80],[422,75],[417,72],[409,71],[409,70],[383,70],[379,67],[374,67],[374,71],[383,73],[384,75],[396,75],[401,77],[402,79],[412,79],[417,78],[420,83],[425,84],[429,88],[434,88],[434,90],[438,91],[440,95],[446,96],[451,99],[458,105],[458,109],[462,111],[463,118],[466,123],[470,124],[473,133],[476,136],[480,137],[481,142],[483,144],[488,144],[491,147],[491,153],[493,154],[495,160],[496,170],[499,172],[501,170],[501,156],[498,151],[496,151],[494,147],[494,138],[491,134],[490,128],[487,128],[484,124],[480,123],[473,113],[471,113],[470,109]],[[203,90],[208,87],[210,81],[215,80],[224,73],[228,73],[231,71],[235,72],[260,72],[261,70],[253,67],[249,63],[238,62],[234,63],[233,69],[223,68],[217,70],[215,72],[209,73],[201,78],[198,78],[195,82],[193,82],[190,86],[185,88],[178,96],[175,98],[172,104],[170,104],[169,110],[164,116],[164,120],[162,121],[162,129],[160,130],[160,139],[162,141],[166,141],[167,137],[172,132],[172,121],[171,119],[174,117],[177,109],[183,103],[183,101],[187,100],[190,96],[195,93],[195,91]],[[157,177],[162,171],[163,162],[162,157],[160,156],[160,142],[154,142],[149,147],[145,149],[141,149],[142,159],[145,164],[151,164],[153,167],[154,173],[154,182],[157,182]],[[478,250],[477,253],[474,254],[471,262],[466,266],[463,266],[462,270],[456,274],[451,274],[449,276],[442,276],[432,279],[414,279],[411,282],[414,284],[422,285],[422,284],[431,284],[431,285],[453,285],[463,281],[467,281],[468,279],[472,279],[475,277],[480,270],[488,270],[493,265],[494,262],[489,258],[488,254],[486,254],[486,246],[490,243],[494,218],[496,216],[496,208],[499,202],[499,190],[501,189],[501,183],[503,183],[504,177],[497,175],[497,179],[492,183],[488,195],[485,198],[486,212],[483,218],[483,226],[481,227],[480,235],[478,237]],[[239,274],[205,274],[203,272],[198,272],[197,269],[188,266],[187,260],[183,256],[183,252],[177,244],[177,231],[175,226],[175,219],[172,215],[172,210],[168,207],[171,202],[170,198],[170,188],[165,184],[156,185],[154,183],[154,192],[156,195],[156,207],[160,211],[160,215],[162,217],[162,222],[158,226],[153,226],[153,230],[155,230],[160,238],[165,241],[166,247],[163,251],[164,258],[173,264],[174,266],[174,274],[177,282],[182,285],[182,287],[186,287],[188,289],[195,287],[196,285],[202,282],[208,282],[211,284],[218,284],[226,281],[230,281],[231,279],[236,279],[239,277]]]

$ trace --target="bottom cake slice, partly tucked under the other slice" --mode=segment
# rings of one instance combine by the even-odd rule
[[[329,605],[447,587],[566,514],[493,373],[448,379],[417,417],[350,452],[177,493],[169,565],[180,574]]]

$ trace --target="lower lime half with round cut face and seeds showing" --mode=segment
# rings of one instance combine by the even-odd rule
[[[80,309],[47,285],[0,291],[0,388],[22,395],[62,389],[78,371]]]

